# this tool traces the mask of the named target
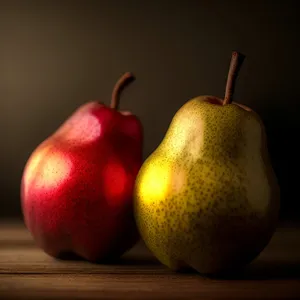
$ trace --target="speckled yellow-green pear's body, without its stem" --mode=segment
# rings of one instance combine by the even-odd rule
[[[203,96],[174,116],[135,185],[135,218],[148,248],[169,268],[227,272],[269,242],[279,187],[257,114]]]

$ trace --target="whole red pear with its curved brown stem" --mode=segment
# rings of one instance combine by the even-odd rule
[[[89,261],[122,255],[138,239],[132,194],[142,164],[143,129],[111,106],[89,102],[31,154],[22,177],[24,221],[37,245],[54,257],[75,254]]]

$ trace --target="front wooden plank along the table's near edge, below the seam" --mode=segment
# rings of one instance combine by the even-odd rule
[[[192,275],[0,275],[1,299],[299,299],[298,280],[208,280]],[[4,298],[5,296],[5,298]]]

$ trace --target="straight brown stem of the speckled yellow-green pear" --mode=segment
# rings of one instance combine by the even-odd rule
[[[244,59],[245,55],[237,51],[232,52],[223,105],[230,104],[233,100],[236,78],[238,76]]]

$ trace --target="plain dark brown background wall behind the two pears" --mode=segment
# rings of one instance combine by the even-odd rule
[[[0,1],[0,217],[21,217],[19,185],[34,148],[81,104],[140,117],[145,157],[197,95],[222,97],[232,50],[246,55],[235,99],[267,129],[282,218],[299,213],[297,1]]]

